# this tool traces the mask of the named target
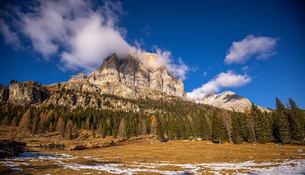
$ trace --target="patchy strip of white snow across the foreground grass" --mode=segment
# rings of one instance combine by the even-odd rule
[[[28,163],[16,163],[15,161],[50,161],[50,165],[56,164],[59,167],[70,168],[73,170],[97,170],[107,171],[113,174],[134,174],[137,172],[153,172],[160,174],[202,174],[210,172],[214,174],[224,173],[225,170],[230,170],[234,174],[304,174],[305,160],[274,160],[274,162],[266,161],[257,163],[255,161],[247,162],[230,162],[230,163],[197,163],[197,164],[174,164],[163,161],[161,163],[140,163],[140,162],[124,162],[124,164],[107,163],[93,165],[77,164],[69,162],[68,160],[76,159],[76,156],[66,154],[40,154],[40,153],[23,153],[20,157],[12,157],[10,159],[1,159],[0,165],[4,166],[29,166]],[[84,159],[97,160],[95,157],[82,157]],[[180,171],[173,171],[170,169],[180,169]],[[12,168],[12,170],[21,168]],[[167,169],[167,170],[163,170]],[[87,172],[91,173],[91,172]]]

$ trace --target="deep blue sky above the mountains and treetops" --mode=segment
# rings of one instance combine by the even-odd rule
[[[91,47],[91,41],[95,38],[88,42],[81,40],[83,37],[86,40],[88,34],[74,37],[73,34],[62,34],[62,31],[74,30],[75,35],[78,35],[75,28],[92,23],[77,21],[79,23],[64,26],[56,21],[30,21],[32,18],[29,17],[39,18],[36,13],[32,13],[33,10],[27,9],[28,4],[8,5],[2,2],[0,73],[3,76],[0,77],[0,83],[9,85],[11,79],[35,80],[42,84],[67,81],[78,72],[90,72],[102,63],[108,52],[137,48],[148,52],[159,51],[166,60],[166,66],[177,76],[184,78],[186,92],[199,88],[199,93],[205,93],[208,92],[207,87],[216,93],[230,90],[260,106],[270,108],[275,108],[276,96],[283,103],[291,97],[299,107],[305,108],[305,12],[301,8],[303,2],[107,3],[108,8],[99,1],[89,5],[79,3],[79,6],[71,8],[79,12],[72,20],[89,15],[86,17],[96,24],[101,19],[99,17],[102,17],[106,22],[100,25],[107,25],[106,28],[114,30],[106,33],[106,30],[93,29],[97,32],[95,38],[109,37],[109,40],[99,40]],[[32,7],[33,4],[36,7],[52,8],[49,4],[32,3]],[[68,6],[69,3],[65,2],[61,7],[65,5]],[[18,6],[19,9],[15,8]],[[92,13],[77,10],[79,7],[87,7],[100,16],[94,18]],[[41,28],[36,28],[40,25]],[[77,27],[72,28],[70,25]],[[42,28],[47,32],[44,33]],[[37,36],[39,38],[36,38]],[[237,45],[230,50],[233,42],[237,42]],[[82,45],[84,43],[86,44]],[[89,51],[95,47],[102,48],[102,51],[90,51],[89,59],[84,58],[85,62],[74,62],[81,60],[81,56],[86,57],[86,52],[79,51],[78,47],[87,46],[90,47]],[[234,55],[234,49],[238,53],[245,51],[245,56]],[[49,50],[54,52],[50,54]],[[225,62],[226,55],[233,59],[229,64]],[[184,63],[178,62],[179,57]],[[248,69],[243,71],[242,68],[247,66]],[[179,72],[177,69],[184,71]]]

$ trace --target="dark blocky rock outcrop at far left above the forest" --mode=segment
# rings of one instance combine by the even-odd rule
[[[9,87],[9,102],[15,104],[41,103],[49,97],[48,90],[33,81],[13,83]]]

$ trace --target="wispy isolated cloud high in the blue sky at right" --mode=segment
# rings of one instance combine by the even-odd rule
[[[257,55],[257,59],[267,59],[276,54],[277,38],[255,37],[248,35],[242,41],[234,41],[227,51],[225,64],[245,63],[250,56]]]

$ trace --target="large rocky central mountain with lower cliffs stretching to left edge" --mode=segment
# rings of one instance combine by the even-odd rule
[[[145,58],[156,59],[156,54],[146,53]],[[187,99],[184,83],[168,72],[166,67],[146,68],[141,59],[128,55],[119,59],[115,53],[104,59],[103,64],[88,76],[83,73],[74,75],[67,82],[41,85],[34,81],[12,82],[9,87],[0,85],[0,102],[14,104],[53,104],[76,106],[92,106],[134,108],[131,103],[114,102],[111,98],[101,98],[103,94],[116,95],[123,98],[171,99],[179,97]],[[108,105],[109,106],[109,105]]]

